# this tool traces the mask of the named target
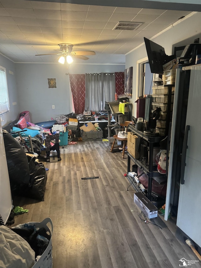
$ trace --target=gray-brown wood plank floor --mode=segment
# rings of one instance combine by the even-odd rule
[[[126,191],[126,154],[122,159],[110,153],[108,142],[93,141],[61,148],[61,158],[45,163],[44,202],[14,199],[14,205],[29,209],[15,216],[14,225],[52,219],[54,268],[176,268],[182,258],[197,260],[174,219],[158,216],[154,222],[163,230],[140,220],[134,189]],[[81,180],[92,176],[99,178]]]

